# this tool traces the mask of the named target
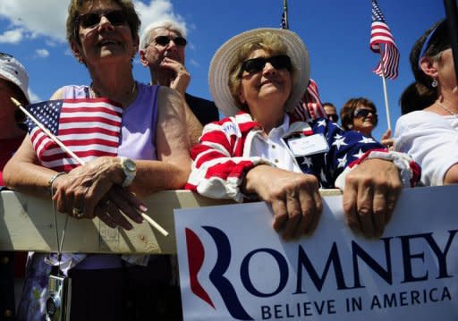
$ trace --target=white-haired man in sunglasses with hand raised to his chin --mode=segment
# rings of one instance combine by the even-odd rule
[[[191,80],[184,66],[186,33],[174,21],[149,24],[140,37],[140,61],[149,68],[151,83],[177,90],[202,125],[219,119],[215,103],[186,93]]]

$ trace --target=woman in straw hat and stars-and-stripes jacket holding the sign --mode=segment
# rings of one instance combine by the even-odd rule
[[[308,51],[290,30],[250,30],[221,46],[209,82],[216,106],[230,117],[205,126],[191,151],[187,188],[215,199],[265,200],[273,227],[289,240],[314,231],[318,188],[337,184],[352,230],[379,236],[402,179],[409,185],[413,178],[409,158],[324,118],[293,122],[287,113],[308,80]]]

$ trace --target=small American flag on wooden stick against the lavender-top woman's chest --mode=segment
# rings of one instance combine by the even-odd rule
[[[98,156],[117,156],[123,109],[112,101],[106,98],[48,100],[26,109],[83,162]],[[43,166],[69,172],[79,165],[30,118],[26,124]]]

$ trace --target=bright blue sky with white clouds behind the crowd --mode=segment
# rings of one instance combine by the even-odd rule
[[[89,84],[85,67],[72,57],[64,39],[68,0],[1,0],[0,52],[16,56],[30,74],[33,100],[45,100],[66,84]],[[137,0],[142,24],[174,18],[188,32],[186,65],[189,92],[211,98],[208,65],[225,40],[244,30],[279,27],[283,0]],[[416,38],[445,17],[440,0],[378,0],[401,52],[399,77],[387,80],[391,119],[400,115],[398,99],[413,77],[408,55]],[[311,77],[323,101],[340,109],[350,97],[368,97],[379,113],[374,137],[386,130],[382,80],[371,72],[378,56],[369,49],[370,0],[289,0],[290,29],[310,51]],[[148,82],[138,58],[135,78]]]

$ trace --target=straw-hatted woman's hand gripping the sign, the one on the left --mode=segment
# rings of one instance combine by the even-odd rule
[[[323,204],[313,175],[284,171],[268,165],[253,167],[245,176],[246,191],[272,206],[273,227],[284,240],[315,231]]]

